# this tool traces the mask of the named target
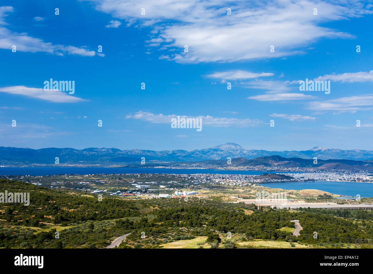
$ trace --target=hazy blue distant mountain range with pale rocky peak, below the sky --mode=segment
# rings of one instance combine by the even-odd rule
[[[319,160],[372,160],[373,151],[343,150],[334,148],[314,147],[304,151],[267,151],[245,149],[235,143],[225,143],[212,148],[186,150],[153,151],[143,149],[120,150],[117,148],[13,148],[0,147],[0,166],[33,166],[54,165],[55,157],[60,164],[91,165],[91,166],[123,166],[128,163],[139,163],[141,157],[153,163],[191,162],[206,160],[225,160],[244,158],[251,160],[257,157],[277,155],[283,158],[302,158]],[[339,160],[340,162],[340,160]]]

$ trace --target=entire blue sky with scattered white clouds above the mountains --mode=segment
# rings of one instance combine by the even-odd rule
[[[0,146],[373,150],[372,4],[153,2],[3,0]],[[44,91],[50,78],[75,93]]]

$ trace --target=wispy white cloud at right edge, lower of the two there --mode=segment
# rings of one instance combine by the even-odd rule
[[[324,102],[312,101],[309,103],[310,110],[334,110],[342,112],[355,113],[357,110],[372,110],[373,109],[373,94],[363,94],[351,97],[341,97],[337,99],[327,100]]]

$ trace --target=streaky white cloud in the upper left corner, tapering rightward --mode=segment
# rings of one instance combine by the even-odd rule
[[[13,7],[0,7],[0,48],[12,50],[16,46],[17,51],[25,52],[46,52],[63,56],[64,54],[76,54],[80,56],[95,56],[95,52],[85,48],[78,48],[72,45],[54,45],[50,42],[44,42],[39,38],[28,36],[26,33],[17,33],[10,31],[5,26],[8,25],[4,18],[8,13],[13,12]]]

